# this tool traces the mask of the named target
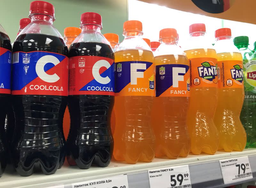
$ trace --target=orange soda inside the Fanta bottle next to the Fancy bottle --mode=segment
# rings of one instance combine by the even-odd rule
[[[197,58],[217,59],[214,49],[192,49],[185,51],[185,53],[191,64],[198,61]],[[190,85],[192,84],[191,82]],[[213,82],[217,83],[217,77]],[[199,155],[201,152],[214,154],[218,149],[218,130],[213,122],[217,107],[217,91],[217,86],[190,86],[188,131],[191,139],[190,151],[195,155]]]

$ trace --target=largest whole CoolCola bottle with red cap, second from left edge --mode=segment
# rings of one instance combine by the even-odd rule
[[[35,165],[52,174],[66,156],[62,122],[68,96],[68,48],[52,26],[52,4],[32,2],[29,18],[31,23],[19,33],[12,55],[12,153],[22,176],[31,175]]]

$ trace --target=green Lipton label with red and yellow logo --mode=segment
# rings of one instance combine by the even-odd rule
[[[251,103],[256,101],[256,60],[244,65],[244,100]],[[250,103],[244,103],[248,104]]]

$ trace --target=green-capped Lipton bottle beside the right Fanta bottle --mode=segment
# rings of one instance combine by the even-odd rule
[[[240,119],[247,133],[245,148],[256,148],[256,53],[248,48],[247,36],[234,38],[234,44],[240,50],[244,64],[244,104]]]

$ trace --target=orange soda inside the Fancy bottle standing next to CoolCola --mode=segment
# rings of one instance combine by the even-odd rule
[[[153,53],[148,50],[127,49],[115,52],[115,63],[153,62],[153,60]],[[145,84],[145,87],[148,87],[148,83]],[[151,109],[154,98],[151,96],[115,96],[116,126],[113,134],[115,141],[113,155],[117,161],[134,164],[138,161],[151,162],[154,159],[155,137],[151,127]]]

